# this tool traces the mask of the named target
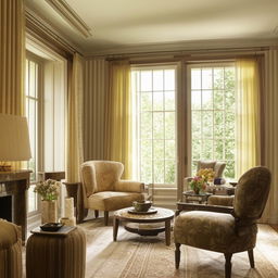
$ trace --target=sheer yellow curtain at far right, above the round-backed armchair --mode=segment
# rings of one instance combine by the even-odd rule
[[[237,169],[239,178],[261,164],[260,76],[255,60],[238,60],[237,72]]]

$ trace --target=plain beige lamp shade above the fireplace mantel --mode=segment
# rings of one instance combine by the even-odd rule
[[[0,161],[28,161],[30,143],[27,118],[0,114]]]

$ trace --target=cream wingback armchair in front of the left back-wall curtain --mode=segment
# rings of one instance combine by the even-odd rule
[[[124,165],[113,161],[88,161],[81,164],[83,195],[85,208],[104,212],[108,225],[109,212],[132,205],[143,200],[142,182],[122,180]]]

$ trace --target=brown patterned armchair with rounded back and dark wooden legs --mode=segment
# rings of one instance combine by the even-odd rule
[[[254,167],[239,179],[233,208],[208,206],[207,211],[192,211],[180,214],[174,224],[176,243],[175,261],[179,267],[180,244],[224,253],[225,277],[231,275],[233,253],[248,251],[250,265],[254,267],[253,249],[256,244],[256,220],[262,216],[270,188],[270,172],[266,167]],[[198,210],[198,205],[195,206]],[[199,208],[205,210],[205,205]]]

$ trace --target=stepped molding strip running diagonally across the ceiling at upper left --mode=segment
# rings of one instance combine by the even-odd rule
[[[78,30],[85,38],[91,37],[91,30],[80,16],[66,3],[65,0],[45,0],[60,15],[62,15],[68,24]]]

